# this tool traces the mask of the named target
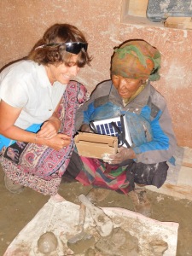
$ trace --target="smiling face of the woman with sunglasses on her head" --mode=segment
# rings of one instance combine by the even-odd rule
[[[46,67],[48,78],[51,84],[55,81],[61,84],[68,84],[69,80],[73,79],[79,73],[79,67],[77,66],[78,55],[72,55],[69,62],[69,66],[64,63],[59,65],[49,64]]]

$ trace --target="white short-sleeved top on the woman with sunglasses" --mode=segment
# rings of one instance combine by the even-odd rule
[[[67,84],[50,84],[45,67],[34,61],[18,61],[0,73],[0,99],[22,108],[15,125],[26,129],[41,124],[54,112]]]

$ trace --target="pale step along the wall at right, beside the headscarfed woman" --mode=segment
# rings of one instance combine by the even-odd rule
[[[146,189],[192,201],[192,148],[178,147],[175,158],[176,166],[169,165],[166,183],[160,189],[154,186]]]

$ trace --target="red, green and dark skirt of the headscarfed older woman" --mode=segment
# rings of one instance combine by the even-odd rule
[[[73,177],[85,186],[92,185],[128,194],[135,188],[135,183],[160,188],[166,181],[169,168],[166,162],[143,164],[125,160],[120,165],[109,165],[99,159],[79,156],[75,151],[63,178]]]

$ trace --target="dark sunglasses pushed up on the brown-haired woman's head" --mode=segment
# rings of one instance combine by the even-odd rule
[[[58,46],[58,47],[65,46],[65,50],[67,52],[78,55],[81,49],[84,49],[84,51],[87,51],[88,44],[82,43],[82,42],[52,43],[52,44],[40,45],[36,49],[44,48],[44,47],[51,47],[51,46]]]

